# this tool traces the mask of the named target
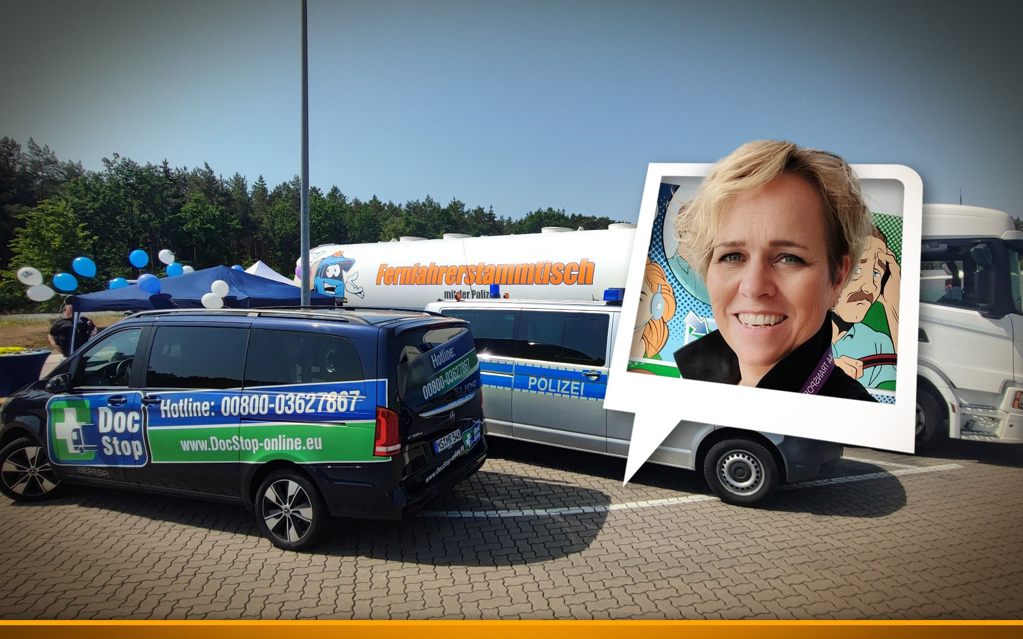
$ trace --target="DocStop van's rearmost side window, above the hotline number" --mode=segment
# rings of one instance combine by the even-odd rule
[[[249,338],[246,386],[361,379],[359,354],[345,337],[254,328]]]

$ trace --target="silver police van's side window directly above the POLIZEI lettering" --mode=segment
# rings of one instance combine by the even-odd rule
[[[608,315],[523,311],[516,357],[604,366],[608,351]]]

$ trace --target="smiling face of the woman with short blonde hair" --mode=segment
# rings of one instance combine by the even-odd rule
[[[820,196],[802,178],[782,174],[724,204],[707,290],[741,383],[755,385],[820,328],[848,269],[846,258],[832,283]]]

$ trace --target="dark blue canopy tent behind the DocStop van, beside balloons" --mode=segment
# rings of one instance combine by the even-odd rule
[[[138,284],[110,288],[68,299],[75,313],[90,311],[148,311],[152,309],[201,309],[203,295],[210,292],[213,282],[222,279],[227,282],[224,306],[232,309],[253,309],[258,307],[299,306],[302,291],[294,284],[276,282],[259,275],[253,275],[226,266],[215,266],[160,280],[160,292],[148,293]],[[333,306],[335,299],[310,291],[312,306]]]

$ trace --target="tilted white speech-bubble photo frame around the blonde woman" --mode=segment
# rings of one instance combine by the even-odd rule
[[[633,319],[637,317],[654,222],[658,218],[661,185],[686,185],[685,188],[695,190],[694,185],[698,185],[713,167],[710,164],[651,164],[647,173],[625,284],[622,321],[615,339],[605,399],[608,409],[635,413],[625,480],[642,465],[679,421],[911,453],[917,408],[923,183],[915,171],[901,165],[851,166],[872,212],[902,218],[896,390],[885,399],[892,403],[874,404],[628,371]]]

